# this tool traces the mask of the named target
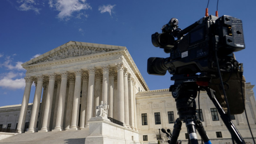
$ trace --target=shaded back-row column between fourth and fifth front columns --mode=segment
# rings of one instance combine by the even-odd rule
[[[75,77],[74,75],[70,75],[69,77],[69,95],[68,95],[68,103],[66,110],[66,121],[65,121],[65,130],[68,130],[71,126],[71,118],[72,118],[72,109],[73,109],[73,101],[74,101],[74,90],[75,90]]]

